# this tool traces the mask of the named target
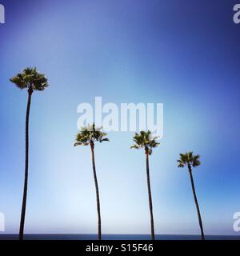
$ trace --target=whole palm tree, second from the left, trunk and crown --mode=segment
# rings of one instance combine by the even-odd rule
[[[94,171],[94,183],[96,189],[97,211],[98,211],[98,240],[102,238],[102,226],[101,226],[101,211],[100,211],[100,198],[98,190],[98,178],[95,167],[94,145],[95,142],[109,142],[106,138],[106,133],[102,132],[102,128],[97,128],[95,124],[92,126],[82,127],[77,134],[76,142],[74,146],[90,146],[92,154],[92,165]]]

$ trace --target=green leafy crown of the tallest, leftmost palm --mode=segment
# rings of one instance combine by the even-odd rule
[[[36,67],[28,67],[22,70],[22,73],[17,74],[14,78],[10,78],[10,82],[13,82],[20,89],[33,90],[45,90],[49,86],[45,74],[38,73]]]

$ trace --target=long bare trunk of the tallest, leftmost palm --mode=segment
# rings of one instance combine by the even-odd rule
[[[24,232],[24,222],[26,214],[26,194],[27,194],[27,179],[28,179],[28,154],[29,154],[29,116],[30,116],[30,106],[31,106],[31,97],[33,90],[30,88],[28,90],[28,101],[26,107],[26,157],[25,157],[25,179],[24,179],[24,189],[23,189],[23,198],[22,198],[22,213],[21,213],[21,222],[19,229],[19,240],[23,240]]]

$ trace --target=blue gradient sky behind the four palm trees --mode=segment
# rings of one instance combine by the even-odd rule
[[[9,82],[37,66],[50,87],[34,93],[26,233],[95,233],[90,149],[74,148],[77,106],[164,103],[164,137],[150,158],[159,234],[199,234],[186,170],[178,154],[194,150],[206,234],[237,234],[240,211],[240,25],[230,0],[1,0],[0,211],[18,232],[24,176],[27,94]],[[96,146],[103,233],[149,233],[142,151],[133,133],[110,133]]]

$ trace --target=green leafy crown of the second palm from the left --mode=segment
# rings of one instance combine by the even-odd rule
[[[106,133],[102,132],[102,127],[97,128],[95,124],[82,127],[77,134],[74,146],[90,146],[94,142],[109,142],[109,138],[106,138]]]

